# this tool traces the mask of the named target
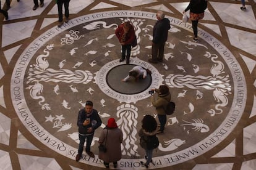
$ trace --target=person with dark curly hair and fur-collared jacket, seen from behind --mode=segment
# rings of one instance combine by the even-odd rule
[[[159,145],[159,140],[156,137],[157,123],[153,116],[145,115],[142,119],[142,129],[139,131],[140,146],[145,150],[144,158],[147,160],[146,163],[140,161],[140,163],[148,168],[150,163],[153,163],[152,156],[154,148]]]

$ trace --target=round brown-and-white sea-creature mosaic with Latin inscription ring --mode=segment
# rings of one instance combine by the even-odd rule
[[[22,134],[38,141],[41,150],[64,158],[72,166],[103,167],[98,159],[98,137],[108,118],[114,117],[124,133],[118,169],[145,169],[137,132],[143,115],[157,115],[148,91],[166,84],[176,103],[168,116],[160,146],[150,168],[181,168],[203,163],[233,141],[249,119],[254,93],[249,92],[248,71],[209,30],[199,28],[192,41],[190,23],[166,15],[171,22],[163,63],[148,63],[155,12],[108,10],[73,17],[61,28],[49,25],[28,39],[11,63],[9,93]],[[138,46],[130,64],[119,62],[120,44],[114,30],[129,20]],[[151,70],[139,82],[121,82],[135,65]],[[92,152],[75,163],[79,144],[77,113],[92,100],[103,121],[93,138]],[[79,164],[79,166],[77,166]],[[65,165],[62,168],[66,167]],[[64,168],[65,169],[65,168]]]

